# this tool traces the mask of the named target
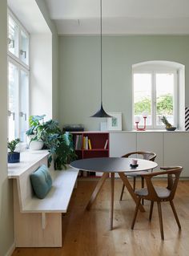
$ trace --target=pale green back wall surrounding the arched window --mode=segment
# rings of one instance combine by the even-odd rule
[[[99,47],[99,36],[59,38],[61,124],[99,130],[103,120],[89,117],[100,104]],[[107,112],[123,112],[123,130],[132,128],[132,65],[150,60],[185,65],[189,105],[189,35],[103,36],[103,104]]]

